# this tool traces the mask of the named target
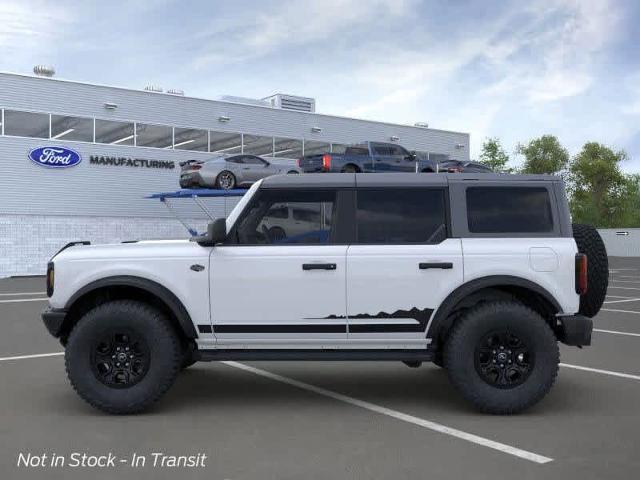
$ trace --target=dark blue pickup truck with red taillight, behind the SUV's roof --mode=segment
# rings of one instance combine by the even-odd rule
[[[409,152],[394,143],[364,142],[350,145],[342,154],[305,155],[298,160],[304,173],[437,172],[438,163],[425,154]]]

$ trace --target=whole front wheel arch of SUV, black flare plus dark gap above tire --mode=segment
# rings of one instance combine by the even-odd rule
[[[189,312],[173,292],[153,280],[117,275],[88,283],[69,298],[65,304],[67,315],[61,339],[66,339],[73,325],[91,308],[123,298],[141,300],[162,310],[183,339],[189,341],[198,337]]]

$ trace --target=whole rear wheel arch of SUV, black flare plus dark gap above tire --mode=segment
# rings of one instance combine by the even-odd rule
[[[544,287],[521,277],[492,275],[471,280],[453,290],[434,312],[426,329],[438,348],[458,315],[487,300],[515,299],[538,312],[556,330],[555,314],[562,311],[560,303]]]

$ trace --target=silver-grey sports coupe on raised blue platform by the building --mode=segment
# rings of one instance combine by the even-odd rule
[[[230,190],[248,187],[270,175],[300,173],[295,160],[257,155],[220,155],[211,160],[189,160],[180,163],[181,188],[220,188]]]

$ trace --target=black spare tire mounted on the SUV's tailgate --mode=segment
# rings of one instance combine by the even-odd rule
[[[579,313],[594,317],[602,308],[609,286],[607,249],[600,234],[591,225],[574,223],[572,226],[578,251],[587,256],[587,293],[580,296]]]

